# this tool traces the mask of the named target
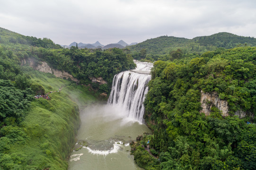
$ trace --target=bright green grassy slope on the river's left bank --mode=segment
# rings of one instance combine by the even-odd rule
[[[79,106],[96,102],[97,96],[86,86],[32,68],[22,69],[31,81],[43,85],[46,93],[63,88],[50,93],[51,100],[35,99],[18,127],[6,127],[23,136],[8,143],[9,149],[0,158],[0,170],[65,170],[79,128]]]

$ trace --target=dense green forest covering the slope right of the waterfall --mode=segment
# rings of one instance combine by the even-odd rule
[[[232,115],[255,113],[256,48],[188,56],[156,61],[151,71],[145,118],[154,130],[150,147],[160,153],[161,169],[253,169],[255,125],[246,124],[253,119]],[[201,90],[226,100],[230,116],[214,105],[210,116],[200,113]]]

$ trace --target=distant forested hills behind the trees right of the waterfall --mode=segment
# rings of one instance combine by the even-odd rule
[[[147,54],[168,54],[181,49],[186,52],[213,51],[217,48],[230,49],[239,46],[256,46],[256,38],[238,36],[230,33],[218,33],[210,36],[199,36],[193,39],[160,36],[151,38],[128,48],[132,53],[145,49]]]

